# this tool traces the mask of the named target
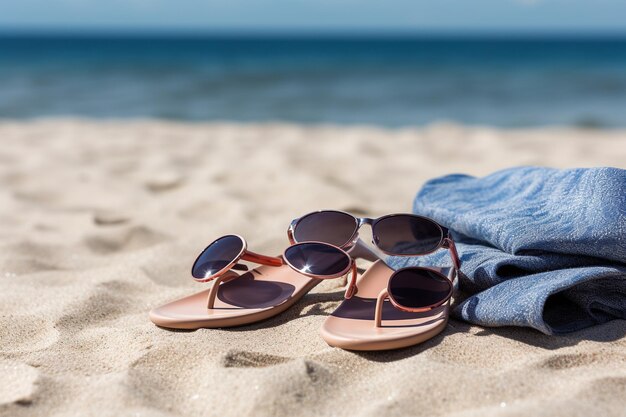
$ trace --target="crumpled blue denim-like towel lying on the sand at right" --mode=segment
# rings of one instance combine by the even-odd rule
[[[626,170],[523,167],[427,182],[413,211],[448,227],[461,256],[453,314],[546,334],[626,319]],[[391,257],[445,266],[447,251]]]

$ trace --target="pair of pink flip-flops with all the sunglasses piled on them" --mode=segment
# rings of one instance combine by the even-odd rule
[[[359,238],[372,228],[374,245],[392,256],[450,251],[450,268],[392,270]],[[294,220],[282,256],[247,249],[245,239],[223,236],[202,251],[192,267],[210,289],[150,312],[157,326],[174,329],[233,327],[282,313],[324,279],[350,275],[344,300],[326,319],[321,335],[348,350],[397,349],[424,342],[448,321],[460,260],[448,230],[426,217],[392,214],[378,219],[324,210]],[[374,261],[360,277],[354,258]],[[260,264],[248,270],[240,261]],[[237,273],[236,271],[241,271]]]

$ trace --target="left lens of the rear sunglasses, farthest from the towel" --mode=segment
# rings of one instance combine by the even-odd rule
[[[317,241],[343,246],[356,231],[354,217],[338,211],[311,213],[298,221],[293,233],[296,242]]]

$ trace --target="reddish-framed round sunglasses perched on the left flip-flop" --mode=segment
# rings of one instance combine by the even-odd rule
[[[249,251],[246,240],[239,235],[226,235],[211,242],[196,258],[191,275],[198,282],[219,279],[233,269],[247,270],[239,264],[241,260],[268,266],[286,264],[317,279],[338,278],[352,272],[346,296],[351,297],[356,288],[356,264],[341,248],[324,242],[303,242],[285,249],[282,257],[266,256]]]

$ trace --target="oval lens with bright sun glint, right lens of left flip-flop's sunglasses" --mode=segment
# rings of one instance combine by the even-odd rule
[[[337,275],[350,266],[350,257],[323,243],[300,243],[285,251],[285,259],[298,271],[313,275]]]

